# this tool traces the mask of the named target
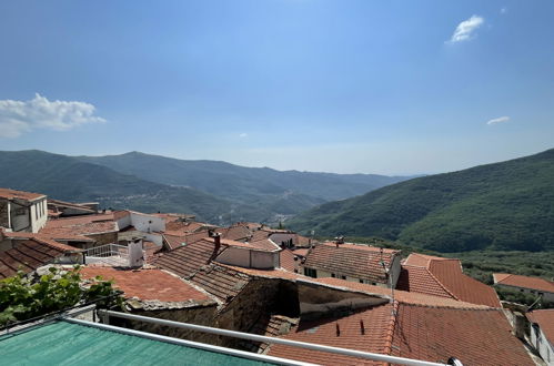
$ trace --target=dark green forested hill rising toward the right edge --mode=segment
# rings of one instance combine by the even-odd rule
[[[554,251],[554,149],[325,203],[288,226],[316,235],[381,236],[440,252]]]

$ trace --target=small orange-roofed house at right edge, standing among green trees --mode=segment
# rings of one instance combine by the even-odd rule
[[[554,282],[540,277],[521,276],[508,273],[494,273],[494,286],[541,296],[543,302],[554,304]]]

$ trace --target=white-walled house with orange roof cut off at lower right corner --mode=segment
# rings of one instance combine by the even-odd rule
[[[554,308],[527,313],[530,343],[548,366],[554,365]]]

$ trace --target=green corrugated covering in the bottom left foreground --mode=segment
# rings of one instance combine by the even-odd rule
[[[56,322],[0,336],[0,364],[268,365],[68,322]]]

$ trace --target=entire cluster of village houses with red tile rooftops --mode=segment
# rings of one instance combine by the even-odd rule
[[[219,227],[190,215],[99,211],[50,199],[44,223],[27,213],[27,227],[14,230],[23,222],[16,220],[21,206],[32,210],[43,200],[0,190],[0,278],[80,263],[84,278],[113,279],[132,314],[443,364],[540,364],[526,324],[554,343],[553,311],[505,308],[459,260],[402,258],[396,250],[318,242],[259,223]],[[497,277],[502,284],[510,275]],[[554,294],[552,282],[541,283],[542,293]],[[282,344],[168,335],[298,362],[383,364]]]

